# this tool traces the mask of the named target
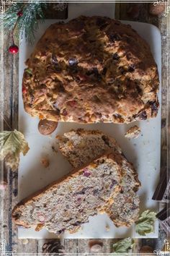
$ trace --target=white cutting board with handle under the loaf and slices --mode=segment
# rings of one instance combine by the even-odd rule
[[[101,15],[113,18],[115,14],[114,4],[69,4],[68,20],[78,17],[80,14]],[[40,25],[36,34],[36,42],[45,32],[45,29],[56,20],[45,20]],[[124,22],[124,21],[123,21]],[[159,78],[161,81],[161,34],[158,28],[153,25],[139,22],[124,22],[132,25],[138,33],[146,39],[151,46],[154,59],[158,64]],[[36,43],[35,42],[35,43]],[[132,46],[133,47],[133,46]],[[156,188],[160,169],[160,149],[161,149],[161,109],[158,111],[156,119],[149,121],[136,121],[132,124],[71,124],[59,123],[53,135],[43,136],[37,130],[38,119],[32,118],[23,108],[22,103],[22,74],[24,71],[24,61],[30,56],[34,46],[28,46],[22,40],[19,49],[19,130],[24,133],[29,142],[30,150],[26,156],[21,157],[19,164],[19,200],[31,195],[50,182],[61,178],[71,171],[71,165],[66,161],[61,153],[54,153],[52,146],[56,144],[56,135],[63,135],[70,129],[83,127],[84,129],[100,129],[108,135],[115,137],[119,142],[123,153],[131,161],[139,174],[142,184],[138,194],[140,195],[140,211],[153,209],[158,211],[158,203],[151,200]],[[159,93],[161,103],[161,90]],[[137,124],[141,129],[138,139],[128,140],[124,137],[125,131]],[[48,156],[50,166],[44,168],[40,163],[43,156]],[[109,230],[107,227],[109,226]],[[34,229],[19,228],[19,238],[48,239],[55,238],[55,234],[49,233],[45,229],[34,231]],[[134,226],[130,228],[116,228],[108,216],[98,215],[89,218],[89,223],[82,225],[75,234],[65,232],[64,238],[124,238],[138,237],[135,234]],[[141,236],[140,236],[141,237]],[[147,237],[158,237],[158,223],[155,225],[153,234]]]

